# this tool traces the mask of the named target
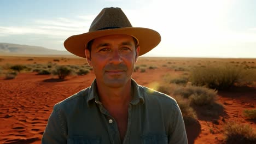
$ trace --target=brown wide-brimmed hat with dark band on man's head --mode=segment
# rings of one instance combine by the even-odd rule
[[[136,38],[141,47],[139,56],[152,50],[161,41],[160,34],[153,29],[132,27],[120,8],[104,8],[92,21],[88,33],[67,38],[64,46],[74,55],[85,58],[85,48],[90,40],[112,34],[127,34]]]

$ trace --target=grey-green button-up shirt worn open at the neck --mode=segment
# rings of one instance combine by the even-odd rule
[[[188,143],[177,102],[132,80],[126,135],[99,101],[96,80],[89,88],[57,103],[42,143]]]

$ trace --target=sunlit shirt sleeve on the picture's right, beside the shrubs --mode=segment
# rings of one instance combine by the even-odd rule
[[[185,130],[185,124],[182,117],[182,112],[179,109],[177,103],[173,106],[173,112],[171,116],[171,124],[168,135],[168,143],[187,144],[188,138]]]

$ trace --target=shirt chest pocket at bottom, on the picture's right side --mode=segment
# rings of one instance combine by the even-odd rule
[[[143,143],[158,143],[158,144],[164,144],[168,143],[168,138],[166,135],[146,135],[142,136]]]

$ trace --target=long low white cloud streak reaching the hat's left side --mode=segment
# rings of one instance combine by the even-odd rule
[[[91,23],[90,17],[78,16],[77,19],[58,17],[56,19],[34,20],[30,26],[0,26],[0,36],[36,34],[66,38],[70,35],[88,32]]]

